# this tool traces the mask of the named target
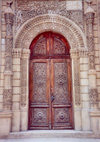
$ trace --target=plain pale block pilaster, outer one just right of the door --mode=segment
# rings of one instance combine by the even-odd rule
[[[82,130],[89,131],[90,128],[90,103],[88,93],[88,50],[80,49],[80,96],[81,96],[81,114],[82,114]]]

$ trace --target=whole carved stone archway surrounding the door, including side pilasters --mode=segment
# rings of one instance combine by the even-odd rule
[[[15,64],[17,64],[17,68],[15,69],[17,73],[19,73],[20,85],[19,87],[19,111],[18,117],[21,119],[17,121],[18,117],[13,115],[13,123],[12,131],[20,131],[27,130],[28,126],[28,74],[29,74],[29,47],[33,39],[40,33],[45,31],[53,31],[63,35],[70,44],[71,47],[71,58],[72,58],[72,84],[73,84],[73,101],[74,101],[74,122],[76,130],[90,130],[90,122],[88,126],[85,124],[85,118],[83,117],[84,113],[87,115],[87,119],[89,120],[88,111],[82,111],[81,106],[81,91],[84,85],[81,85],[80,89],[80,66],[84,66],[88,64],[88,51],[86,38],[82,30],[71,20],[64,18],[55,14],[46,14],[37,16],[28,20],[26,23],[22,25],[19,29],[18,33],[14,39],[14,48],[13,48],[13,68]],[[81,62],[84,61],[85,62]],[[18,70],[19,68],[19,70]],[[14,71],[15,71],[14,70]],[[86,70],[88,72],[88,70]],[[13,76],[13,82],[15,78]],[[84,82],[84,77],[81,78],[81,82]],[[88,90],[88,85],[86,86]],[[15,88],[16,89],[16,88]],[[83,89],[84,90],[84,89]],[[14,85],[13,85],[13,92]],[[88,95],[88,92],[86,92]],[[84,94],[84,93],[83,93]],[[14,97],[15,94],[13,94]],[[13,104],[15,102],[13,101]],[[14,112],[13,112],[14,113]],[[16,113],[16,112],[15,112]],[[19,114],[20,113],[20,114]],[[20,117],[21,116],[21,117]],[[78,117],[78,119],[77,119]],[[23,120],[24,118],[24,120]],[[84,123],[83,123],[83,122]],[[16,127],[15,127],[16,125]],[[83,125],[83,126],[82,126]],[[85,127],[86,126],[86,127]],[[17,130],[16,130],[17,129]]]

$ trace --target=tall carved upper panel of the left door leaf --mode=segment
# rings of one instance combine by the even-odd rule
[[[33,64],[33,100],[34,103],[46,102],[46,63]]]

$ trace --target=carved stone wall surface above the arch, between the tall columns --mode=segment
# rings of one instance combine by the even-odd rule
[[[27,20],[37,15],[59,14],[75,21],[83,29],[82,10],[67,10],[66,1],[32,1],[16,0],[16,31]]]

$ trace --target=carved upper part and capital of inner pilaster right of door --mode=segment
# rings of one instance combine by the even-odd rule
[[[77,49],[71,49],[71,58],[74,66],[74,90],[75,90],[75,105],[81,104],[80,100],[80,76],[79,76],[79,51]]]

